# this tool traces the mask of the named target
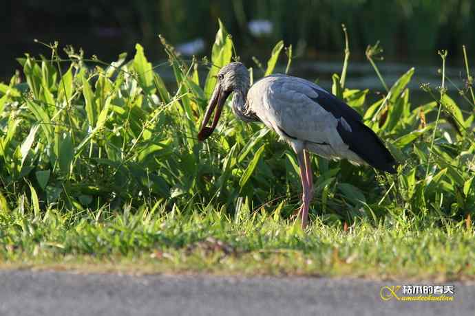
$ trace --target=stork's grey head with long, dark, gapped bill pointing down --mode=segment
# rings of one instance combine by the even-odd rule
[[[249,71],[242,65],[242,63],[229,63],[228,65],[222,67],[218,73],[218,82],[213,91],[213,95],[209,99],[208,109],[204,114],[203,122],[201,124],[200,133],[198,133],[198,140],[201,142],[204,139],[207,139],[211,133],[213,133],[218,120],[220,120],[220,115],[224,103],[229,95],[233,91],[247,91],[249,89]],[[213,123],[211,127],[208,127],[207,124],[211,118],[211,113],[216,109]]]

